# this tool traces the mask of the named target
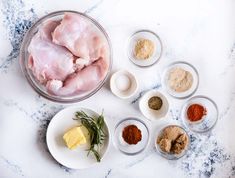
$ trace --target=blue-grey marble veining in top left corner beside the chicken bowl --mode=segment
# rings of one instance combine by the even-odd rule
[[[6,59],[0,63],[0,70],[7,72],[7,68],[19,56],[20,45],[24,34],[36,21],[37,15],[33,8],[26,9],[21,0],[3,0],[2,2],[3,22],[8,31],[8,38],[11,42],[12,50]]]

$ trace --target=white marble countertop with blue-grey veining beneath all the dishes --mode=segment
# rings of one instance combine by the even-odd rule
[[[147,4],[153,4],[152,6],[154,6],[155,3],[158,3],[155,5],[157,10],[151,9],[150,5],[147,6],[148,8],[142,9],[141,6],[143,6],[143,4],[139,4],[139,2],[136,2],[136,6],[134,6],[131,2],[124,2],[122,0],[113,0],[112,2],[97,0],[86,3],[84,1],[71,1],[71,4],[68,2],[65,3],[54,1],[54,3],[57,3],[54,10],[78,10],[88,15],[94,15],[92,16],[93,18],[99,19],[99,22],[107,27],[108,34],[113,43],[114,68],[116,65],[120,68],[128,68],[138,75],[140,84],[141,82],[142,84],[148,83],[147,87],[140,87],[140,90],[136,96],[128,101],[120,101],[117,98],[114,98],[114,96],[108,94],[106,96],[105,92],[109,91],[102,89],[100,93],[97,93],[90,99],[75,105],[91,108],[95,107],[99,110],[100,108],[94,106],[92,101],[101,101],[102,99],[106,98],[107,101],[105,102],[107,103],[114,102],[115,106],[120,107],[121,105],[124,105],[122,112],[128,112],[128,108],[133,109],[134,107],[135,110],[133,111],[133,116],[143,118],[143,116],[140,115],[140,112],[138,112],[135,107],[138,104],[141,96],[144,94],[144,92],[150,89],[163,89],[160,79],[153,77],[149,78],[148,81],[145,80],[144,76],[149,76],[147,73],[148,71],[151,71],[152,74],[155,74],[157,71],[156,75],[158,75],[158,71],[162,71],[161,66],[164,66],[169,62],[185,57],[191,60],[190,57],[187,56],[190,53],[192,55],[192,60],[189,62],[195,63],[203,74],[208,74],[206,73],[206,70],[210,70],[210,66],[204,65],[204,63],[201,64],[203,61],[195,60],[193,57],[194,55],[197,56],[198,53],[202,52],[202,59],[205,58],[207,60],[213,60],[210,58],[213,56],[210,52],[208,52],[208,54],[204,54],[203,51],[200,50],[199,52],[197,50],[193,51],[193,49],[195,49],[195,44],[200,44],[198,41],[201,40],[200,34],[202,34],[202,31],[206,30],[207,28],[214,28],[213,24],[211,23],[212,17],[210,16],[210,11],[206,11],[205,9],[211,10],[211,14],[214,14],[218,17],[218,24],[221,23],[224,25],[223,19],[219,17],[221,17],[221,14],[223,13],[226,14],[227,9],[231,7],[232,3],[230,0],[225,0],[224,2],[219,0],[215,0],[215,2],[210,0],[200,2],[197,0],[190,0],[190,2],[194,4],[194,6],[191,6],[188,2],[189,1],[186,0],[180,0],[178,2],[179,6],[174,4],[176,7],[182,8],[182,13],[184,11],[188,13],[188,16],[185,17],[185,14],[182,14],[181,12],[177,11],[176,13],[175,9],[177,8],[172,9],[169,7],[168,3],[173,3],[169,0],[146,1]],[[215,77],[220,77],[221,80],[225,81],[225,86],[231,87],[231,90],[229,90],[226,95],[227,98],[218,96],[218,93],[214,92],[214,88],[212,86],[209,86],[208,91],[204,90],[202,83],[200,83],[200,86],[202,87],[200,88],[199,86],[199,91],[206,91],[217,99],[217,103],[222,103],[220,105],[218,127],[215,127],[212,132],[205,135],[195,134],[188,130],[191,147],[185,157],[177,161],[167,161],[157,154],[154,148],[154,144],[151,142],[149,144],[149,148],[147,148],[144,153],[136,157],[124,156],[115,150],[113,146],[111,146],[104,162],[101,163],[101,165],[94,167],[92,170],[77,171],[66,168],[57,163],[52,158],[47,149],[46,129],[51,118],[58,111],[67,107],[67,105],[49,102],[39,97],[36,93],[33,93],[30,87],[25,87],[23,85],[17,86],[19,91],[22,91],[22,88],[25,88],[27,91],[22,94],[21,92],[18,92],[17,89],[15,89],[17,87],[14,86],[14,81],[20,80],[22,83],[25,83],[25,79],[20,77],[20,70],[17,62],[20,45],[24,34],[33,25],[33,23],[42,15],[52,11],[51,7],[48,7],[47,9],[47,5],[45,4],[46,0],[39,2],[29,2],[25,0],[2,0],[0,2],[0,21],[3,24],[1,28],[6,30],[6,34],[3,34],[3,36],[4,38],[7,38],[11,45],[11,49],[8,49],[9,54],[0,58],[0,80],[7,86],[12,86],[11,90],[14,89],[14,93],[12,93],[11,90],[4,85],[2,85],[0,89],[0,132],[3,132],[0,134],[0,139],[2,140],[1,143],[4,143],[0,147],[0,177],[136,178],[156,177],[156,175],[166,178],[170,178],[173,175],[175,177],[181,178],[235,177],[235,141],[230,137],[231,135],[229,134],[232,130],[232,124],[235,124],[234,118],[232,117],[234,115],[233,108],[235,105],[235,87],[234,85],[231,85],[234,78],[233,72],[235,71],[234,42],[229,49],[221,52],[223,53],[223,56],[227,55],[226,59],[221,59],[224,62],[219,61],[219,59],[217,59],[218,61],[215,62],[216,66],[222,65],[221,70],[219,70],[218,75],[215,74]],[[112,4],[115,4],[115,7]],[[170,10],[168,10],[169,16],[165,13],[165,11],[161,10],[166,7],[170,8]],[[187,11],[187,8],[189,11]],[[201,8],[205,8],[204,10],[207,13],[204,11],[201,13]],[[195,9],[199,11],[198,14],[196,13],[196,15],[194,14]],[[140,12],[142,12],[141,10],[143,11],[142,15],[146,15],[146,19],[140,16]],[[112,14],[110,14],[110,12],[112,12]],[[220,13],[216,14],[215,12]],[[102,18],[100,16],[101,13]],[[152,16],[154,17],[154,25],[152,25],[151,21],[148,19]],[[223,15],[222,17],[225,18]],[[179,25],[177,23],[179,23]],[[133,24],[133,26],[131,24]],[[160,61],[159,64],[156,64],[147,70],[139,69],[133,66],[132,63],[129,63],[128,59],[123,55],[122,52],[117,54],[119,51],[124,51],[124,45],[122,41],[126,40],[130,34],[130,31],[133,31],[136,28],[143,28],[142,24],[148,24],[148,27],[153,27],[154,30],[159,32],[159,34],[164,34],[162,35],[162,40],[165,51],[161,61],[165,62]],[[226,28],[229,28],[229,26]],[[178,35],[181,37],[181,39],[183,39],[182,43],[177,39]],[[231,34],[231,38],[233,38],[232,36],[233,35]],[[120,39],[122,41],[120,41]],[[226,43],[226,41],[224,43]],[[228,43],[231,43],[231,41]],[[207,47],[210,48],[211,46]],[[198,45],[197,48],[200,48],[200,45]],[[192,52],[189,52],[190,49],[192,49]],[[220,52],[217,50],[215,50],[215,53],[220,54]],[[120,59],[125,59],[125,61],[121,61]],[[144,70],[146,71],[144,73],[145,75],[143,75]],[[7,80],[8,78],[11,79],[11,82],[13,82],[12,84],[9,84],[9,81]],[[208,82],[213,80],[213,78],[209,77],[206,79],[208,79]],[[18,98],[18,96],[21,94],[25,96],[25,99],[20,97]],[[172,99],[170,96],[168,96],[168,98],[170,102],[174,103],[174,107],[170,108],[168,120],[183,126],[182,120],[180,119],[180,108],[183,102]],[[29,103],[32,104],[30,105]],[[111,110],[108,110],[107,116],[110,116],[108,121],[110,127],[113,128],[116,122],[114,122],[114,118],[122,118],[124,115],[121,113],[121,111],[120,113],[113,114]],[[153,128],[158,126],[157,122],[155,123],[147,120],[146,122],[148,122],[149,125],[151,125]],[[12,124],[15,128],[13,133],[11,132]],[[22,130],[24,127],[26,129]],[[228,129],[227,132],[226,129]],[[8,143],[6,138],[12,138],[9,136],[9,134],[18,134],[17,136],[20,138],[23,137],[25,139],[22,140],[22,145],[18,145],[21,149],[17,149],[15,153],[8,151],[8,149],[12,150],[11,148],[15,146],[12,143]],[[224,140],[221,140],[221,138],[224,138]],[[17,142],[18,140],[17,138],[12,139],[14,139],[12,142]],[[154,137],[151,139],[154,140]],[[24,145],[26,146],[24,147]],[[233,149],[230,149],[230,147]],[[23,148],[27,150],[24,151],[22,150]],[[33,166],[33,168],[28,166],[30,161],[34,162],[35,166]],[[166,172],[168,172],[168,174],[166,174]]]

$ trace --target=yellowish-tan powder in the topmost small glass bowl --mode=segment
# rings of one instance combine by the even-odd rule
[[[139,39],[135,44],[134,55],[137,59],[148,59],[153,55],[154,43],[149,39]]]

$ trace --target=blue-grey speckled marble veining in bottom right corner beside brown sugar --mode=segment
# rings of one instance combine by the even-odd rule
[[[191,149],[181,162],[181,167],[188,176],[211,177],[216,169],[219,171],[223,171],[224,168],[233,169],[235,158],[218,145],[213,135],[203,137],[190,135],[190,139]],[[195,165],[199,161],[201,163],[198,169]],[[232,177],[233,174],[231,171],[226,177]]]

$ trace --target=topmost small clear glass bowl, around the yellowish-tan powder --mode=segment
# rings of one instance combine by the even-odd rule
[[[148,59],[137,59],[134,55],[135,44],[138,39],[148,39],[154,43],[154,52]],[[139,30],[131,35],[127,46],[128,58],[139,67],[148,67],[155,64],[162,56],[162,42],[159,36],[150,30]]]

